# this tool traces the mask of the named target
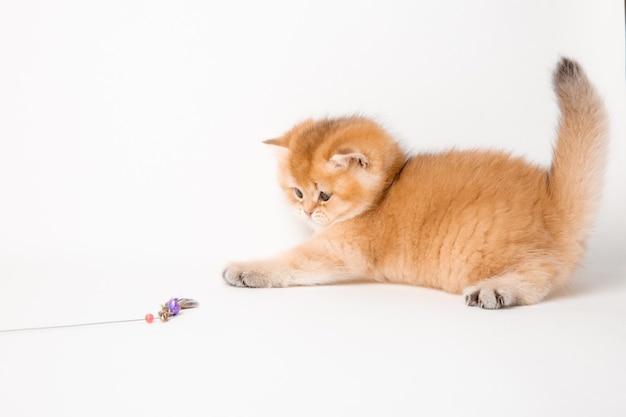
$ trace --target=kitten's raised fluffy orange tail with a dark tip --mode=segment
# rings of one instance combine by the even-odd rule
[[[559,235],[576,246],[579,258],[602,191],[608,122],[602,99],[577,62],[562,58],[553,84],[561,119],[548,189]]]

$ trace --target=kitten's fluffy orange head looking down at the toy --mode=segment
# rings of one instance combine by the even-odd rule
[[[376,204],[406,155],[371,120],[306,120],[265,141],[279,149],[279,182],[314,229],[347,220]]]

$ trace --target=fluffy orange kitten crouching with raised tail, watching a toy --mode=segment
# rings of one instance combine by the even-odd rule
[[[366,118],[307,120],[266,143],[280,185],[317,232],[273,259],[232,263],[239,287],[349,280],[533,304],[580,263],[607,152],[602,101],[574,61],[553,74],[561,120],[549,170],[493,151],[412,157]]]

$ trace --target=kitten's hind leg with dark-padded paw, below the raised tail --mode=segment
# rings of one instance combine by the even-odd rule
[[[555,278],[543,270],[506,272],[463,290],[465,303],[472,307],[498,309],[515,305],[535,304],[555,287]]]

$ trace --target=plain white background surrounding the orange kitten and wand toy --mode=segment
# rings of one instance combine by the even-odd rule
[[[612,149],[585,266],[503,311],[393,285],[236,289],[305,238],[261,143],[364,114],[407,148],[549,164],[559,56]],[[0,333],[12,416],[626,415],[620,1],[3,1]]]

